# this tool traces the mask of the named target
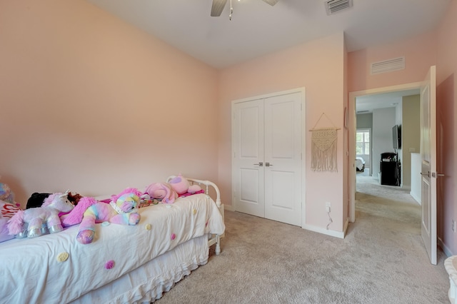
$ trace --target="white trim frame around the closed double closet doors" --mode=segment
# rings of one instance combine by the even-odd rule
[[[271,98],[274,96],[278,95],[286,95],[290,93],[300,93],[301,95],[301,227],[306,225],[306,132],[305,127],[306,127],[306,88],[303,86],[301,88],[293,88],[291,90],[286,90],[286,91],[278,91],[278,92],[273,92],[273,93],[266,93],[263,95],[258,95],[258,96],[251,96],[247,98],[241,98],[241,99],[236,99],[231,101],[231,108],[233,108],[233,104],[235,103],[240,103],[243,101],[251,101],[254,99],[263,99],[263,98]],[[233,118],[233,112],[231,113],[231,116]],[[235,133],[235,126],[233,126],[233,123],[231,124],[231,142],[232,142],[232,148],[231,148],[231,158],[233,159],[234,157],[234,151],[233,151],[233,134]],[[231,201],[234,203],[233,196],[235,195],[235,192],[233,191],[233,165],[231,169]],[[236,206],[233,206],[233,210],[236,210]]]

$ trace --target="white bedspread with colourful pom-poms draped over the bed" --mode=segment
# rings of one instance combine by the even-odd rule
[[[206,194],[139,213],[137,226],[96,224],[96,238],[87,245],[76,241],[78,226],[0,243],[1,303],[68,303],[191,238],[225,230],[216,203]],[[69,258],[59,261],[62,253]],[[109,262],[114,262],[111,269]]]

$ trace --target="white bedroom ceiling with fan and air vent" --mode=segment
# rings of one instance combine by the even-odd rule
[[[327,16],[325,0],[229,1],[211,17],[212,0],[87,0],[215,68],[344,31],[348,51],[435,28],[451,0],[353,0]]]

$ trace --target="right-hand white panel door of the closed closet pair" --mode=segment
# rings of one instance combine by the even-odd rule
[[[301,95],[266,98],[265,218],[301,226]]]

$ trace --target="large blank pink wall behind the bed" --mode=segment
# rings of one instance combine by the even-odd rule
[[[22,206],[216,181],[215,69],[86,1],[1,1],[0,29],[0,175]]]

